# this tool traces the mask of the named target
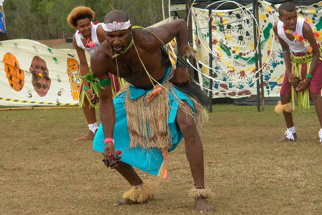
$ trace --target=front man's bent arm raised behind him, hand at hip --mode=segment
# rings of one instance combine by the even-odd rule
[[[188,44],[188,28],[187,22],[184,19],[176,19],[172,22],[168,22],[159,27],[149,28],[156,36],[158,36],[164,44],[169,43],[176,37],[177,42],[177,54],[182,55],[183,45]],[[163,44],[158,38],[152,36],[153,42],[152,47],[154,50],[159,50]],[[151,47],[151,46],[150,46]],[[189,84],[190,73],[185,67],[177,67],[175,69],[175,74],[173,77],[173,82],[176,85],[185,85]]]

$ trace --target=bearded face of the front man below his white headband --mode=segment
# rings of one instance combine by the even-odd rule
[[[105,32],[106,41],[116,54],[121,54],[128,47],[132,39],[132,26],[126,30]]]

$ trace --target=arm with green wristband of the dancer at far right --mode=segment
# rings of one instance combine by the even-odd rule
[[[317,68],[317,64],[319,62],[320,50],[317,46],[317,40],[315,39],[312,28],[306,22],[303,25],[303,36],[305,39],[308,40],[308,42],[310,43],[310,46],[312,46],[312,49],[313,49],[313,59],[311,62],[310,70],[308,72],[308,74],[313,76],[313,74]],[[303,80],[298,84],[298,87],[296,87],[297,91],[304,91],[311,82],[311,78],[309,78],[309,77],[302,77],[302,78],[303,78]],[[305,84],[304,80],[308,85]]]

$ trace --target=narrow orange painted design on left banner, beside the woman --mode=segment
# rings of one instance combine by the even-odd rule
[[[80,65],[74,58],[67,58],[67,74],[69,77],[69,82],[71,83],[71,96],[74,100],[79,97],[80,88]]]

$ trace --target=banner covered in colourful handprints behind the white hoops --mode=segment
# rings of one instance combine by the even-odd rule
[[[270,55],[270,49],[273,44],[272,17],[274,22],[278,22],[278,7],[280,4],[268,5],[264,1],[259,1],[259,28],[260,28],[260,49],[262,62]],[[247,9],[252,11],[252,5],[247,5]],[[312,6],[298,6],[298,16],[309,17],[313,24],[320,31],[322,28],[322,2]],[[220,8],[218,8],[220,9]],[[245,14],[243,14],[243,12]],[[193,8],[193,26],[195,48],[199,60],[209,66],[209,46],[208,33],[208,10]],[[212,15],[212,45],[213,45],[213,73],[217,74],[216,79],[228,82],[213,81],[213,97],[256,97],[257,89],[254,72],[255,60],[253,38],[253,21],[250,14],[244,9],[234,10],[216,10]],[[247,20],[246,23],[244,20]],[[198,38],[198,35],[200,39]],[[267,61],[267,69],[263,73],[265,97],[278,97],[281,84],[284,77],[285,65],[282,56],[282,48],[278,41],[274,41],[272,56]],[[233,55],[233,56],[231,56]],[[226,57],[226,58],[219,58]],[[228,58],[228,56],[231,56]],[[236,68],[238,67],[238,68]],[[204,74],[209,75],[209,69],[202,64],[198,68]],[[227,70],[227,71],[218,71]],[[199,80],[202,79],[203,86],[209,87],[209,79],[199,74]],[[247,87],[249,85],[249,87]],[[244,88],[246,87],[246,88]],[[239,90],[237,92],[225,93]]]

